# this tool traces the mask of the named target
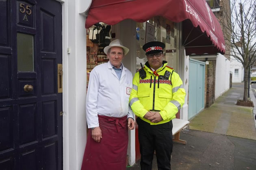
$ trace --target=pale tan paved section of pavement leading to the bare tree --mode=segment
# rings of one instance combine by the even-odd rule
[[[252,90],[250,97],[256,105]],[[231,89],[190,121],[189,129],[256,140],[254,108],[238,106],[237,100],[243,100],[243,83],[232,83]]]

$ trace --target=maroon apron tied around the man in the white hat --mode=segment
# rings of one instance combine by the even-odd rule
[[[89,129],[81,170],[126,170],[127,116],[98,117],[102,139],[95,142]]]

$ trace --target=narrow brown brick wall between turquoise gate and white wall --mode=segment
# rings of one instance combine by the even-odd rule
[[[206,72],[206,102],[205,107],[210,107],[215,101],[215,69],[216,69],[216,60],[209,61],[209,64],[205,65]]]

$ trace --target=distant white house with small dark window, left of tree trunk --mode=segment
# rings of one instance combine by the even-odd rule
[[[238,69],[238,77],[235,76],[235,69]],[[232,56],[230,57],[230,71],[232,72],[232,83],[241,83],[243,81],[243,65]]]

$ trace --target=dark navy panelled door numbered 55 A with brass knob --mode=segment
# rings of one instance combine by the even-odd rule
[[[0,0],[1,170],[63,168],[61,13],[55,0]]]

